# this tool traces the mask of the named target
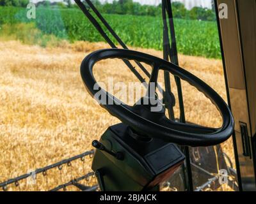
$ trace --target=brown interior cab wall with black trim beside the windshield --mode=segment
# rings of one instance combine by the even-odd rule
[[[230,106],[235,119],[234,147],[241,187],[255,191],[256,136],[256,1],[217,0],[228,6],[220,19]]]

